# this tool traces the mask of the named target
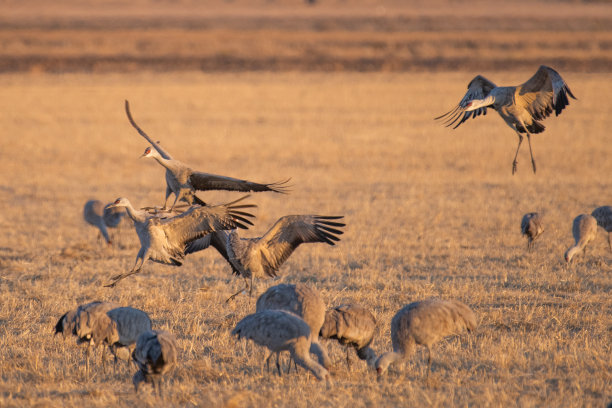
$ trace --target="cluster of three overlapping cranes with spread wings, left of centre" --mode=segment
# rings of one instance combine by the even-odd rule
[[[110,208],[126,209],[134,222],[140,239],[140,250],[133,268],[112,277],[106,286],[114,287],[120,280],[139,273],[147,260],[167,265],[182,265],[186,255],[213,246],[229,263],[232,272],[241,276],[245,288],[232,295],[233,299],[244,290],[253,289],[253,277],[274,277],[280,266],[293,251],[303,243],[322,242],[335,245],[345,226],[339,222],[343,216],[289,215],[280,218],[270,230],[258,238],[242,238],[236,228],[246,229],[253,225],[250,211],[255,205],[240,204],[244,199],[231,203],[208,206],[197,197],[197,191],[271,191],[287,193],[288,180],[260,184],[247,180],[218,176],[192,170],[184,163],[173,159],[158,143],[153,141],[134,121],[125,102],[125,110],[132,126],[150,144],[143,157],[155,159],[166,172],[166,197],[162,211],[151,214],[147,210],[135,209],[127,198],[121,197]],[[164,211],[168,197],[175,200],[169,211]],[[175,212],[176,203],[187,202],[188,210]],[[250,280],[250,282],[248,282]]]

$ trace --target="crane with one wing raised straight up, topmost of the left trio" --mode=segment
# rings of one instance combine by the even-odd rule
[[[289,180],[276,183],[259,184],[248,180],[240,180],[232,177],[217,176],[215,174],[202,173],[192,170],[189,166],[173,159],[170,154],[155,143],[137,124],[130,113],[130,105],[125,101],[125,112],[128,120],[138,133],[144,137],[153,148],[147,147],[141,157],[151,157],[166,169],[166,198],[163,208],[166,208],[168,197],[174,193],[173,209],[179,200],[188,204],[206,205],[196,195],[196,191],[206,190],[228,190],[228,191],[273,191],[276,193],[287,193],[286,183]]]

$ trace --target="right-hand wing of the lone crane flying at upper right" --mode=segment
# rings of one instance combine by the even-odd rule
[[[572,91],[554,69],[541,65],[527,82],[516,87],[515,103],[525,108],[535,120],[547,118],[553,110],[559,116],[569,105]]]

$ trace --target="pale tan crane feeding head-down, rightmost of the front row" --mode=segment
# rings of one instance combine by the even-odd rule
[[[476,315],[464,303],[456,300],[427,299],[410,303],[391,320],[393,351],[382,354],[376,361],[378,375],[390,364],[408,359],[416,345],[427,347],[427,374],[431,367],[431,347],[446,336],[476,328]]]

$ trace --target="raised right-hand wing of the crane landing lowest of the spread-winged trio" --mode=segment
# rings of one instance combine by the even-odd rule
[[[287,215],[280,218],[255,244],[260,251],[262,266],[268,276],[276,276],[280,266],[303,243],[325,242],[335,245],[344,223],[331,221],[343,216]]]

